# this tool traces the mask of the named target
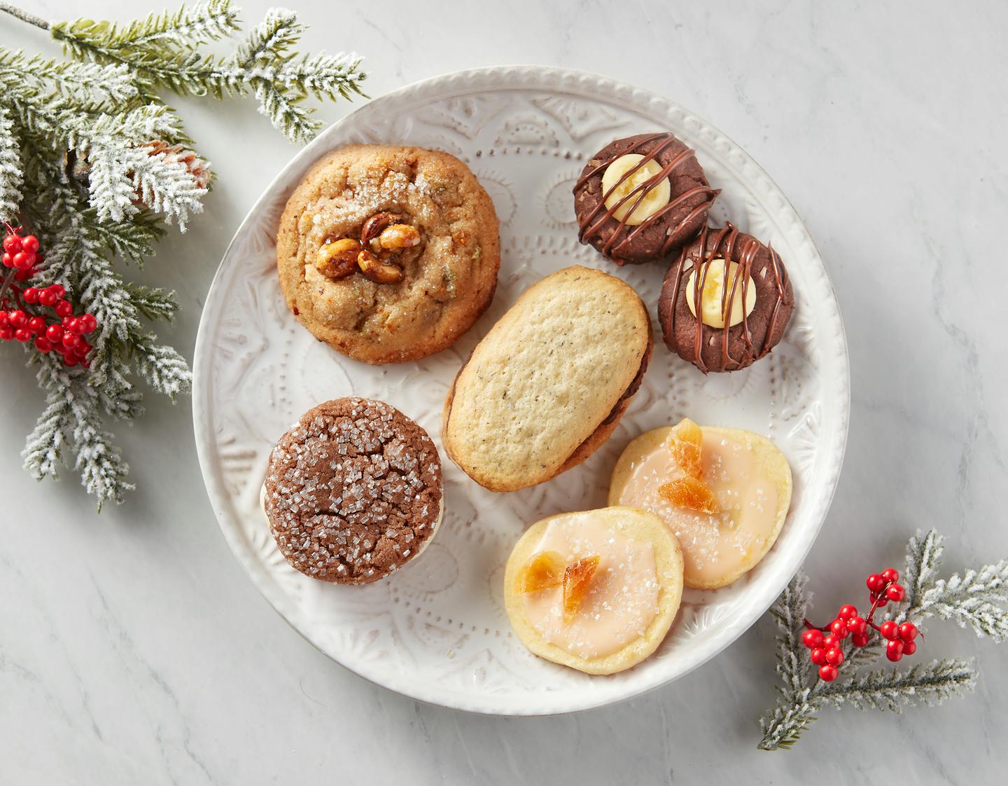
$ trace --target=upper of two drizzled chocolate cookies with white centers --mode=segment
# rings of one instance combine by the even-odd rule
[[[704,226],[718,193],[694,150],[670,133],[617,139],[574,187],[579,239],[617,264],[660,259]]]

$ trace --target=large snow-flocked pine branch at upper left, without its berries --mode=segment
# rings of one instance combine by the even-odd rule
[[[174,316],[173,293],[124,274],[153,255],[166,225],[185,230],[211,187],[209,161],[160,94],[255,96],[277,129],[304,142],[321,126],[305,99],[363,95],[365,75],[354,54],[295,54],[303,28],[283,9],[226,55],[201,47],[241,33],[231,0],[123,24],[46,22],[7,2],[0,10],[46,30],[70,58],[0,47],[0,220],[30,225],[41,242],[25,285],[61,285],[99,324],[88,369],[24,345],[46,399],[22,456],[41,479],[73,455],[101,507],[132,487],[109,424],[142,413],[140,382],[172,400],[191,384],[184,359],[151,329]]]

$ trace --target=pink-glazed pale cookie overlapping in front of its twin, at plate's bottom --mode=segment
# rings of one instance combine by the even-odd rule
[[[569,583],[582,595],[576,609],[564,608]],[[623,671],[653,653],[681,598],[678,543],[660,519],[635,508],[536,522],[504,571],[504,606],[521,643],[588,674]]]

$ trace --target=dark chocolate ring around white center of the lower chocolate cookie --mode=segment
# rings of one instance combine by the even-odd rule
[[[744,263],[756,290],[756,305],[744,323],[727,331],[703,324],[686,303],[694,267],[721,258]],[[741,290],[737,296],[741,298]],[[752,235],[731,224],[705,228],[669,266],[658,298],[665,345],[702,371],[734,371],[751,365],[777,345],[794,311],[794,292],[784,262]],[[699,351],[698,351],[699,350]]]

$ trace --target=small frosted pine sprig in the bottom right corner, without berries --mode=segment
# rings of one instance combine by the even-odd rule
[[[1008,561],[939,579],[942,552],[943,538],[934,530],[917,532],[910,538],[903,569],[906,596],[890,615],[897,623],[908,619],[920,622],[929,616],[953,620],[972,627],[978,636],[1005,641]],[[973,662],[965,660],[938,659],[903,672],[892,668],[859,673],[860,666],[877,659],[877,642],[860,648],[845,646],[841,671],[844,679],[815,679],[811,669],[803,665],[801,635],[806,629],[804,615],[809,598],[806,582],[799,572],[770,609],[779,629],[776,670],[782,684],[777,688],[780,698],[776,705],[760,718],[763,738],[759,748],[773,751],[792,747],[828,705],[900,712],[904,706],[936,704],[974,689],[978,674]]]

